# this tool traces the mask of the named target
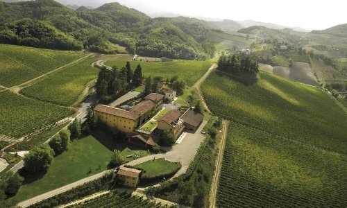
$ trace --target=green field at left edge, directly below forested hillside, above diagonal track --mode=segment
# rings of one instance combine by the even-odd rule
[[[85,53],[0,44],[0,85],[11,87],[82,58]]]

